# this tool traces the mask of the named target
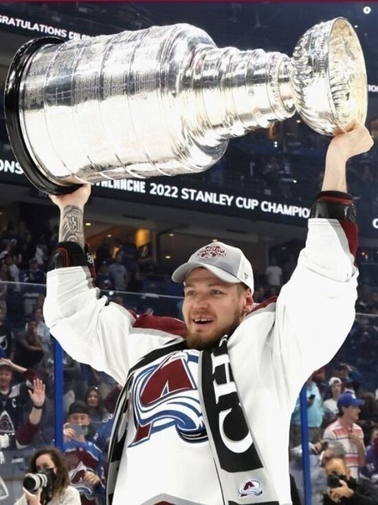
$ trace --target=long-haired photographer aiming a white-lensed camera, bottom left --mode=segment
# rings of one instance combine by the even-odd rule
[[[78,491],[69,484],[65,458],[55,447],[33,455],[23,486],[24,494],[14,505],[80,505]]]

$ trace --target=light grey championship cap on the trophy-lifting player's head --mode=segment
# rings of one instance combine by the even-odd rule
[[[172,274],[173,282],[185,282],[194,268],[207,268],[222,281],[242,282],[254,292],[254,272],[243,251],[223,242],[212,242],[201,247],[188,261],[176,268]]]

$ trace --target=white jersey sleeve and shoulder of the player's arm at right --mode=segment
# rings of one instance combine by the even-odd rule
[[[357,275],[340,222],[309,219],[291,279],[275,302],[258,305],[230,339],[232,371],[248,411],[259,388],[282,412],[293,411],[306,380],[329,363],[353,325]],[[256,391],[245,378],[254,379]]]

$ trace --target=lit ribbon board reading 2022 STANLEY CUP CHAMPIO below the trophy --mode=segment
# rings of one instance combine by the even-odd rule
[[[30,185],[19,162],[14,158],[0,158],[0,184],[1,182]],[[243,191],[230,187],[219,189],[219,186],[215,189],[211,184],[204,186],[194,181],[188,184],[188,178],[184,182],[184,178],[179,175],[175,178],[105,180],[94,184],[92,193],[94,196],[125,202],[294,226],[307,226],[311,206],[311,202],[298,203],[295,197],[283,201],[279,197],[267,197],[257,191],[254,193],[253,190]],[[371,206],[360,202],[357,202],[357,211],[360,235],[377,237],[378,211],[375,212]]]

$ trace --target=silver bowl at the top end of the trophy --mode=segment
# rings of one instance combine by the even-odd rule
[[[348,122],[366,120],[368,84],[364,54],[346,19],[315,25],[291,58],[291,85],[298,113],[318,133],[332,135]]]

